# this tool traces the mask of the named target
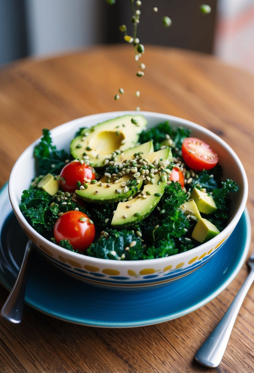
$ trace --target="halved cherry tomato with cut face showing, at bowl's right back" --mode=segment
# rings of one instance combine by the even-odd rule
[[[182,158],[195,171],[210,170],[218,163],[218,155],[206,142],[187,137],[182,143]]]

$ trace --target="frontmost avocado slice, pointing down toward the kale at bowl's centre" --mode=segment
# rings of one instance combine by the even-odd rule
[[[154,177],[154,184],[149,183],[144,186],[142,193],[146,195],[145,199],[139,196],[142,194],[140,193],[131,201],[119,202],[111,226],[115,228],[123,228],[145,219],[161,199],[161,196],[155,196],[155,194],[160,193],[162,195],[164,192],[166,180],[160,181],[160,179],[161,176],[157,174]],[[159,181],[160,183],[158,185]],[[146,194],[146,192],[150,192],[150,195]],[[136,214],[138,216],[135,216]]]

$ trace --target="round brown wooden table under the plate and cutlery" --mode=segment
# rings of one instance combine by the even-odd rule
[[[219,134],[247,171],[254,223],[254,76],[214,57],[147,47],[136,77],[130,46],[95,47],[47,60],[25,59],[0,72],[0,184],[20,153],[53,128],[114,110],[167,113]],[[115,101],[118,88],[124,95]],[[135,97],[136,90],[140,97]],[[253,237],[253,236],[252,236]],[[254,239],[252,239],[252,246]],[[244,372],[254,370],[254,286],[248,292],[218,369],[194,354],[219,322],[248,273],[244,265],[218,297],[179,319],[131,329],[73,325],[25,306],[22,323],[0,320],[1,372]],[[0,286],[0,307],[8,292]]]

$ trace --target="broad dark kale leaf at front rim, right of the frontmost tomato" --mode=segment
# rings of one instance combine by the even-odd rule
[[[109,233],[107,238],[99,238],[88,248],[88,256],[115,260],[138,260],[143,258],[144,249],[142,242],[132,231],[123,229],[122,231],[108,230],[107,232]],[[133,241],[136,244],[130,248],[130,244]],[[129,247],[129,249],[125,250],[126,247]]]

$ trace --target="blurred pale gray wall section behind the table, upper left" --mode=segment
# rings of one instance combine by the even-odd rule
[[[28,53],[47,55],[104,42],[105,0],[26,0]]]

